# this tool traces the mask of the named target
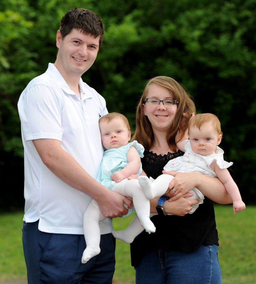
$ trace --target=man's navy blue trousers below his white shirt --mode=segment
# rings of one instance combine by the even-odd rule
[[[101,235],[101,252],[86,264],[84,235],[38,230],[38,221],[23,224],[22,243],[28,284],[111,284],[115,270],[115,239]]]

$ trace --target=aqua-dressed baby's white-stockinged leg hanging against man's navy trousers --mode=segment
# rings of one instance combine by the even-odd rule
[[[99,222],[106,219],[101,213],[98,204],[92,200],[84,214],[84,234],[86,248],[83,252],[82,263],[88,262],[93,256],[100,253],[101,232]]]

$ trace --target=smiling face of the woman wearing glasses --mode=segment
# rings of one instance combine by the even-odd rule
[[[155,98],[159,100],[174,99],[171,92],[162,86],[157,84],[150,85],[148,89],[147,98]],[[177,111],[177,105],[174,104],[170,108],[166,108],[163,102],[160,102],[157,106],[150,106],[148,102],[143,104],[144,115],[148,117],[153,131],[161,130],[167,132],[173,124],[174,116]]]

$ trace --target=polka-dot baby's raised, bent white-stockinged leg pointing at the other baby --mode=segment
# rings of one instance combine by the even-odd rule
[[[148,199],[161,196],[168,190],[169,183],[173,180],[172,175],[160,175],[153,182],[146,176],[139,177],[139,184]]]

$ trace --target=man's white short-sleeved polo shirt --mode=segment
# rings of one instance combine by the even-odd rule
[[[81,100],[54,64],[34,78],[18,101],[25,167],[26,222],[39,219],[39,230],[83,234],[83,215],[91,201],[54,175],[42,162],[34,139],[57,139],[93,178],[97,178],[103,147],[98,120],[108,113],[106,102],[80,79]],[[101,233],[110,233],[112,220],[100,222]]]

